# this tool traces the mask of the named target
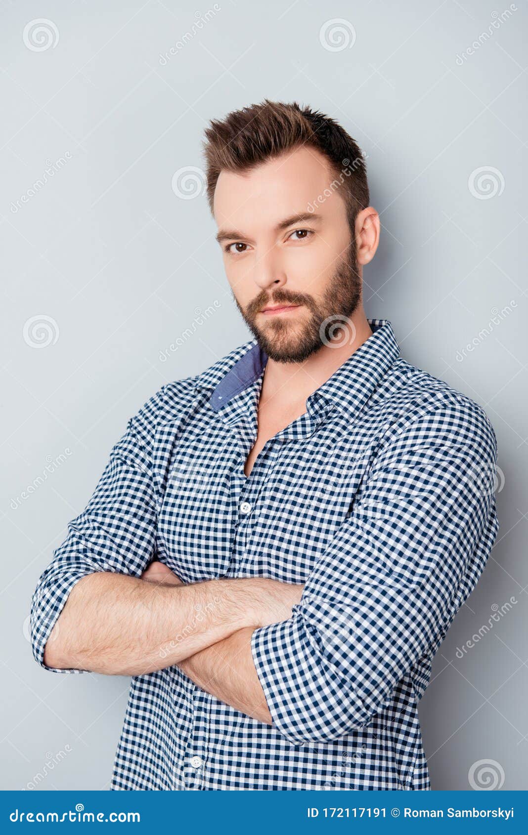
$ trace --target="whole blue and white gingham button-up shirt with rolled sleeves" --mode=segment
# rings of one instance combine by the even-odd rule
[[[289,620],[251,637],[273,725],[177,666],[134,676],[113,790],[430,788],[418,701],[495,540],[495,434],[469,397],[399,357],[389,321],[369,321],[250,478],[256,341],[162,387],[53,552],[32,602],[40,665],[93,571],[140,576],[157,554],[188,583],[306,583]]]

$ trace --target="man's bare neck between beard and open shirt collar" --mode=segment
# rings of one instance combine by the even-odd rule
[[[332,377],[333,372],[372,336],[373,331],[363,307],[350,316],[350,321],[355,328],[352,342],[345,342],[344,345],[336,347],[322,345],[304,362],[277,362],[269,357],[262,381],[261,397],[266,401],[277,398],[304,403],[307,397]]]

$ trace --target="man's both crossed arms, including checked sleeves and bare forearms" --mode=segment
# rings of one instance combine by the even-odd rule
[[[110,675],[180,665],[246,715],[268,724],[272,716],[295,745],[363,728],[434,655],[498,528],[495,436],[483,412],[449,402],[378,454],[305,585],[167,582],[160,563],[153,571],[168,574],[145,582],[154,579],[145,567],[155,553],[155,493],[133,440],[116,445],[39,581],[33,655],[48,669]]]

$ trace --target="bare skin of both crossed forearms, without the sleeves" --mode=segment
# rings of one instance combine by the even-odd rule
[[[95,572],[70,592],[44,664],[132,676],[177,664],[203,690],[272,724],[251,634],[290,617],[302,589],[266,578],[182,584],[158,561],[141,578]]]

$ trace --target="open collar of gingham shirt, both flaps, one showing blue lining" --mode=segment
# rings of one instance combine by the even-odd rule
[[[390,321],[368,319],[368,324],[373,331],[372,336],[310,397],[317,394],[330,405],[349,413],[357,412],[367,402],[388,368],[399,357],[399,345]],[[232,397],[261,376],[266,362],[266,352],[256,339],[252,339],[195,377],[195,389],[212,388],[211,407],[218,412]]]

